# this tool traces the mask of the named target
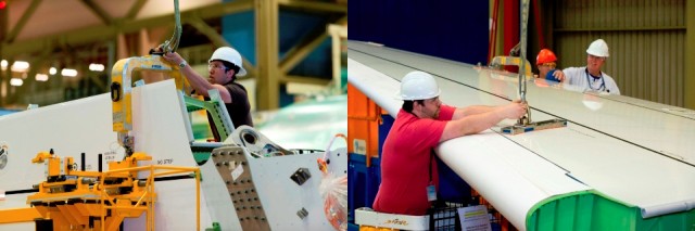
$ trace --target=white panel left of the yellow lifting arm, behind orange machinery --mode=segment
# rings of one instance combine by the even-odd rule
[[[0,169],[4,191],[29,190],[46,180],[43,164],[31,164],[41,151],[53,149],[56,155],[73,156],[78,164],[84,152],[94,171],[99,153],[115,152],[117,159],[123,158],[112,131],[109,94],[5,115],[0,117],[0,142],[8,145],[8,165]]]

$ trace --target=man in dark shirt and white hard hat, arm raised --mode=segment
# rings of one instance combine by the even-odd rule
[[[217,89],[219,97],[227,106],[227,112],[235,128],[242,125],[253,126],[247,89],[235,81],[239,76],[247,75],[247,70],[242,67],[241,54],[237,50],[229,47],[222,47],[215,50],[207,61],[207,78],[195,73],[186,60],[176,52],[166,53],[163,56],[169,63],[180,67],[181,74],[186,76],[191,87],[198,94],[205,97],[205,100],[210,98],[207,90]],[[211,126],[211,128],[215,139],[219,141],[219,134],[216,132],[215,127]]]

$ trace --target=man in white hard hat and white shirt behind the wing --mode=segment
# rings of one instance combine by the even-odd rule
[[[592,42],[586,49],[586,66],[567,67],[565,73],[565,88],[576,91],[594,91],[620,94],[618,85],[608,74],[601,72],[601,67],[608,59],[608,44],[603,39]]]

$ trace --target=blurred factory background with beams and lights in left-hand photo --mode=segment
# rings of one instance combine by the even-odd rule
[[[346,101],[346,1],[180,1],[180,11],[177,52],[199,74],[207,76],[207,60],[218,47],[241,53],[249,75],[238,82],[249,91],[256,125],[293,103]],[[169,39],[173,13],[174,0],[0,1],[2,114],[109,92],[113,64],[148,55]],[[204,115],[193,114],[199,137],[210,134]],[[289,123],[291,116],[277,119]],[[330,127],[345,126],[338,120],[343,123]],[[313,145],[330,139],[325,136]]]

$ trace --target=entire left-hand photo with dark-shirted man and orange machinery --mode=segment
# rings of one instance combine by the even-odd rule
[[[346,38],[344,0],[0,0],[0,231],[346,230]]]

